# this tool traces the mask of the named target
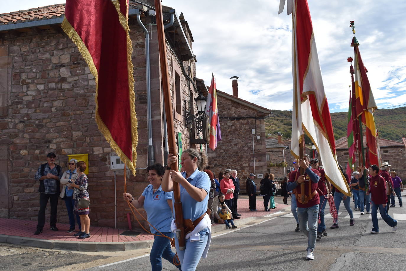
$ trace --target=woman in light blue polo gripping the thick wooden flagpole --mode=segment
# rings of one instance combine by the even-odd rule
[[[186,232],[185,250],[179,249],[179,242],[175,238],[176,252],[183,271],[194,271],[201,257],[206,258],[211,240],[212,225],[207,215],[207,202],[211,182],[207,173],[203,172],[207,165],[207,158],[201,152],[187,149],[182,152],[181,166],[184,172],[170,170],[177,162],[177,157],[169,154],[168,168],[162,178],[162,189],[173,191],[173,182],[179,183],[184,219],[194,221],[196,227]],[[174,202],[174,199],[173,199]],[[174,223],[172,230],[176,230]]]

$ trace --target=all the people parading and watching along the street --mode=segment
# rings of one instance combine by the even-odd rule
[[[88,178],[84,171],[86,163],[69,160],[68,169],[63,172],[55,164],[56,155],[50,152],[48,162],[37,169],[35,180],[39,181],[40,208],[38,224],[35,234],[41,234],[45,224],[45,208],[50,201],[51,217],[50,230],[56,228],[56,210],[58,197],[65,201],[69,217],[69,230],[75,231],[78,224],[79,231],[73,236],[78,238],[90,237],[89,205],[90,198],[87,191]],[[236,169],[226,169],[215,173],[207,167],[207,158],[201,152],[187,149],[181,155],[181,170],[171,170],[171,165],[178,163],[177,156],[169,154],[168,165],[155,164],[147,168],[149,185],[142,195],[135,198],[130,193],[123,193],[123,199],[129,201],[135,208],[144,208],[147,212],[151,233],[154,234],[154,243],[151,249],[150,261],[152,270],[162,269],[162,258],[173,263],[179,270],[195,270],[200,258],[207,256],[211,241],[211,228],[214,223],[225,224],[227,229],[237,228],[233,220],[240,219],[238,213],[238,195],[240,193],[240,179]],[[383,163],[366,167],[358,167],[350,179],[339,166],[348,186],[351,196],[330,183],[320,167],[317,158],[310,158],[304,154],[303,159],[293,161],[294,169],[290,171],[281,183],[280,195],[283,204],[291,197],[291,211],[296,220],[295,231],[303,232],[308,237],[306,258],[314,259],[316,239],[327,236],[324,220],[324,210],[329,202],[330,212],[339,212],[343,202],[350,217],[350,226],[355,223],[353,210],[350,207],[351,198],[354,202],[354,211],[360,215],[366,212],[371,214],[373,228],[371,234],[379,232],[378,210],[382,219],[397,230],[398,222],[388,215],[389,206],[395,207],[397,196],[399,207],[402,207],[400,193],[403,191],[402,180],[395,171],[390,171],[390,165]],[[302,172],[301,172],[302,169]],[[246,179],[246,194],[248,195],[249,210],[257,211],[256,193],[257,184],[255,174],[250,173]],[[183,218],[190,220],[186,232],[186,244],[179,247],[175,238],[176,254],[171,249],[171,238],[177,232],[175,225],[176,213],[173,195],[173,184],[179,184]],[[63,184],[62,190],[60,184]],[[274,196],[276,194],[275,176],[265,173],[260,181],[259,192],[263,197],[264,211],[276,208]],[[332,209],[333,208],[333,209]],[[338,215],[333,216],[331,229],[339,228]]]

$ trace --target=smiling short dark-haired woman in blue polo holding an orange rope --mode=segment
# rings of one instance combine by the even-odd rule
[[[135,208],[144,208],[147,212],[149,223],[153,225],[162,234],[173,238],[171,232],[172,216],[172,192],[164,192],[161,187],[162,176],[165,168],[161,164],[149,166],[148,180],[151,184],[145,188],[143,194],[135,199],[130,193],[123,193],[124,200],[130,201]],[[158,234],[151,227],[153,234]],[[154,236],[154,242],[149,259],[151,260],[152,271],[162,270],[162,259],[164,258],[173,264],[175,253],[171,249],[171,243],[168,238],[163,236]],[[180,265],[177,266],[180,269]]]

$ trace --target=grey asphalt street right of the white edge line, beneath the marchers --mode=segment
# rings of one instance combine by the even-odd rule
[[[200,261],[197,270],[406,270],[401,264],[406,254],[406,221],[399,220],[399,229],[392,232],[392,228],[379,219],[379,234],[370,234],[371,215],[354,211],[355,225],[350,226],[348,213],[340,211],[340,228],[330,229],[332,219],[326,219],[328,236],[317,241],[315,260],[305,260],[307,238],[294,231],[294,218],[283,213],[228,234],[224,234],[226,231],[215,234],[207,258]],[[405,214],[406,210],[391,208],[389,214],[393,213]],[[165,260],[163,266],[163,270],[177,270]],[[148,255],[86,271],[134,268],[151,270]]]

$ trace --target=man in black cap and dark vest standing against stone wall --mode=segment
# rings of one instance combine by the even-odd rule
[[[40,234],[45,225],[45,208],[48,200],[51,205],[50,229],[57,231],[56,228],[56,210],[58,208],[58,197],[60,194],[59,180],[62,178],[62,169],[55,164],[56,155],[50,152],[47,155],[48,163],[38,167],[34,179],[39,181],[39,212],[37,230],[34,234]]]

